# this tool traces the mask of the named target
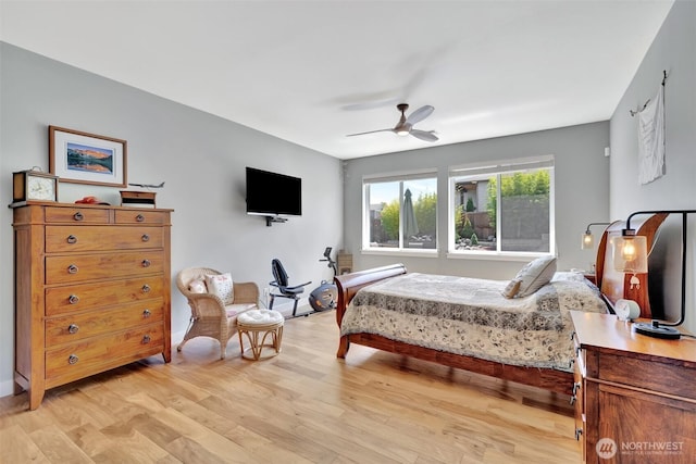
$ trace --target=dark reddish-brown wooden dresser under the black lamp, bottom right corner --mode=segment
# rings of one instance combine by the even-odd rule
[[[583,461],[694,463],[696,340],[634,334],[612,314],[571,315]]]

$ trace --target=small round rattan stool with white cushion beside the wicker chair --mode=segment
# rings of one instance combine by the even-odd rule
[[[283,324],[285,317],[277,311],[250,310],[237,316],[239,348],[247,360],[265,360],[281,352]],[[247,335],[250,347],[245,350],[244,337]],[[268,339],[268,340],[266,340]]]

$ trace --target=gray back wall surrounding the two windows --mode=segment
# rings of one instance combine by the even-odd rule
[[[413,272],[499,279],[513,277],[522,267],[521,262],[447,258],[448,167],[469,162],[554,154],[558,268],[586,269],[594,261],[594,251],[580,249],[581,235],[588,223],[609,218],[609,159],[605,156],[605,147],[608,146],[609,123],[601,122],[348,161],[344,240],[353,254],[353,267],[363,269],[402,262]],[[438,256],[361,254],[363,176],[418,168],[437,168],[438,172]],[[601,229],[594,231],[600,234]]]

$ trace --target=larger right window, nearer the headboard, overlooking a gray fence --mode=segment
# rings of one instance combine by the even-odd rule
[[[449,251],[550,253],[554,158],[449,170]]]

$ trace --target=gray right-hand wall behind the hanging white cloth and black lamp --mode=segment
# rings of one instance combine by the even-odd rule
[[[696,209],[696,2],[678,0],[638,67],[633,81],[610,121],[611,163],[610,211],[625,218],[635,211]],[[657,95],[662,71],[664,87],[666,174],[647,185],[638,184],[637,118],[629,111],[642,106]],[[696,215],[694,215],[696,216]],[[695,286],[696,217],[689,216],[686,327],[696,331]],[[666,256],[663,304],[670,317],[680,310],[681,228],[670,221],[660,234],[664,246],[657,253]],[[656,304],[651,298],[651,304]]]

